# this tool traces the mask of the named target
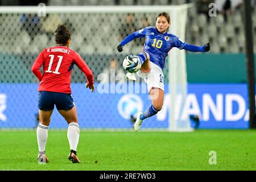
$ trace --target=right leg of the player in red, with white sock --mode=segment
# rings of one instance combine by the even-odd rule
[[[76,106],[73,106],[69,110],[58,110],[61,115],[68,122],[68,142],[70,146],[70,153],[68,159],[73,163],[80,163],[79,158],[76,155],[77,145],[79,143],[80,129],[77,123]]]

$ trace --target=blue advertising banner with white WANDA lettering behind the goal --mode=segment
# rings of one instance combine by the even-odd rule
[[[79,125],[84,129],[130,129],[138,110],[151,105],[146,84],[95,85],[91,93],[84,84],[71,84]],[[138,88],[141,88],[138,90]],[[37,126],[38,84],[0,84],[0,127],[34,128]],[[128,90],[128,92],[127,92]],[[143,123],[143,128],[168,127],[170,94],[165,85],[162,110]],[[189,84],[181,117],[199,115],[199,129],[248,129],[249,109],[246,84]],[[67,122],[53,111],[50,128],[66,128]]]

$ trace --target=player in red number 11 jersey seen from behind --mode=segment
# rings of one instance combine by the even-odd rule
[[[44,49],[31,68],[40,81],[38,88],[39,125],[36,130],[39,148],[38,163],[49,162],[46,156],[46,142],[54,105],[68,122],[68,142],[71,149],[68,159],[73,163],[80,163],[76,155],[80,130],[76,106],[71,95],[71,72],[73,65],[76,64],[88,80],[86,88],[94,92],[93,73],[80,55],[68,48],[71,44],[71,33],[67,27],[61,24],[55,33],[57,46]],[[40,72],[42,65],[43,74]]]

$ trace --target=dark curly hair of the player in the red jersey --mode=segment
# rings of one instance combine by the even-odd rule
[[[59,24],[55,30],[55,41],[57,44],[67,44],[68,39],[71,39],[71,32],[64,24]]]

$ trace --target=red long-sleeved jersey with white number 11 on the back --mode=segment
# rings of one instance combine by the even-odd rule
[[[81,56],[65,46],[44,49],[32,65],[32,72],[38,77],[38,91],[71,93],[71,72],[76,64],[85,74],[88,84],[93,85],[93,73]],[[43,75],[40,67],[43,65]]]

